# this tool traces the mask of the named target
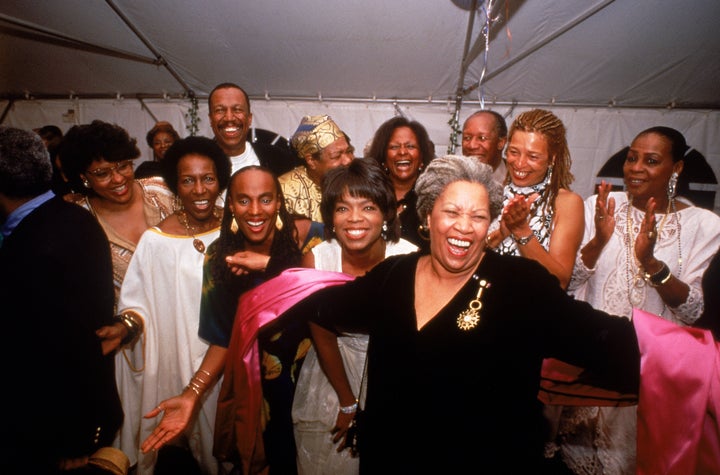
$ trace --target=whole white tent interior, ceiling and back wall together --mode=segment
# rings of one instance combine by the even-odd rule
[[[684,133],[720,176],[718,19],[720,0],[3,0],[0,124],[103,119],[147,158],[156,120],[211,136],[204,99],[229,81],[255,127],[288,137],[303,115],[330,114],[360,149],[401,114],[442,154],[478,108],[510,123],[543,107],[567,127],[587,196],[654,125]]]

